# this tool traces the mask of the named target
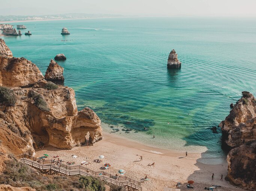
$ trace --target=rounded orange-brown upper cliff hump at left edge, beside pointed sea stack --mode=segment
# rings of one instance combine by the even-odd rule
[[[29,87],[43,79],[42,73],[31,61],[0,56],[0,85],[4,87]]]

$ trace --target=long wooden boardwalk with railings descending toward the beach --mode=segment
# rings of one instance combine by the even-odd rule
[[[105,182],[111,184],[124,186],[128,191],[142,191],[141,182],[135,181],[134,179],[128,178],[127,176],[117,177],[111,175],[105,171],[93,171],[84,167],[82,165],[68,166],[60,163],[60,167],[54,165],[53,160],[40,160],[36,157],[30,156],[28,154],[21,154],[15,156],[16,159],[21,162],[39,170],[41,173],[54,175],[54,174],[64,174],[64,175],[84,175],[84,176],[97,176]],[[56,163],[56,161],[55,161]]]

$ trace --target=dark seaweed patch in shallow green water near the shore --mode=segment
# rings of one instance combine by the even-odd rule
[[[144,128],[149,129],[151,126],[155,125],[153,119],[137,119],[117,113],[99,113],[98,116],[104,123],[112,125],[123,124],[121,127],[123,127],[123,129],[129,129],[129,131],[145,131]]]

